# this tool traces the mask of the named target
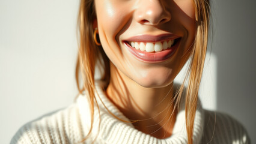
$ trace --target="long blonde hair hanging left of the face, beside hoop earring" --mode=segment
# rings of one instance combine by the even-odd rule
[[[105,70],[102,80],[105,82],[109,81],[109,59],[103,52],[102,47],[97,46],[93,40],[93,19],[95,17],[94,1],[81,0],[78,14],[78,37],[80,40],[78,59],[76,62],[76,84],[80,94],[86,89],[91,109],[91,128],[84,140],[90,136],[91,130],[93,129],[94,101],[96,101],[96,95],[94,94],[94,74],[97,62],[99,62],[100,66],[104,67]],[[100,59],[104,60],[100,61]],[[79,73],[82,76],[82,86],[80,85],[81,79]]]

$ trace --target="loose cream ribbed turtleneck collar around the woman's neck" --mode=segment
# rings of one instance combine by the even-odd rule
[[[105,92],[103,92],[103,86],[104,85],[102,82],[96,82],[96,95],[99,95],[99,97],[96,96],[96,100],[99,104],[100,110],[97,109],[97,106],[94,106],[94,124],[92,136],[96,136],[98,134],[100,127],[97,139],[101,139],[105,141],[105,143],[187,143],[184,98],[181,98],[181,107],[177,113],[172,136],[166,139],[157,139],[156,137],[136,130],[129,122],[122,122],[117,118],[114,118],[114,116],[112,116],[108,110],[118,118],[123,119],[124,121],[129,121],[129,119],[127,119],[126,116],[124,116],[123,113],[121,113],[120,110],[118,110],[117,107],[106,97]],[[100,101],[100,99],[104,104]],[[88,128],[90,128],[91,125],[90,104],[88,103],[88,99],[85,97],[85,95],[79,95],[77,103],[79,106],[79,112],[81,114],[81,121],[84,127],[83,129],[88,131]],[[108,107],[108,110],[104,105]],[[194,143],[200,142],[203,136],[203,125],[204,113],[203,109],[201,108],[200,100],[198,100],[194,122]]]

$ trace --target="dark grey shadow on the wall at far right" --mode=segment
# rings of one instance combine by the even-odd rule
[[[255,1],[213,2],[212,54],[217,61],[217,107],[239,120],[256,143]]]

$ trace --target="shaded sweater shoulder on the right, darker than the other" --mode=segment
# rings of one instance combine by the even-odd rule
[[[243,125],[230,115],[204,110],[202,143],[250,143],[250,140]]]

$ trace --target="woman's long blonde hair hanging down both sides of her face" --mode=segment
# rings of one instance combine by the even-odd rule
[[[201,82],[201,76],[203,73],[204,59],[206,56],[208,31],[209,31],[209,17],[210,17],[210,5],[209,0],[194,0],[195,7],[195,19],[197,32],[195,34],[195,41],[192,48],[191,60],[189,70],[187,71],[186,78],[177,93],[177,102],[181,98],[181,94],[184,89],[184,83],[187,81],[186,90],[186,128],[187,128],[187,140],[188,143],[193,143],[193,130],[195,112],[197,109],[198,89]],[[78,16],[78,31],[79,31],[79,53],[76,64],[76,83],[79,89],[79,93],[87,89],[88,97],[90,98],[91,107],[91,128],[87,134],[90,136],[93,121],[94,121],[94,101],[96,101],[96,95],[94,94],[94,74],[96,63],[103,68],[103,81],[108,85],[110,77],[109,59],[106,56],[101,46],[97,46],[93,40],[93,20],[96,18],[96,11],[93,0],[81,0]],[[100,59],[103,59],[101,61]],[[79,85],[79,71],[82,75],[83,86]],[[96,101],[97,104],[97,101]],[[99,108],[99,107],[98,107]],[[117,117],[116,117],[117,118]],[[85,140],[84,139],[84,140]]]

